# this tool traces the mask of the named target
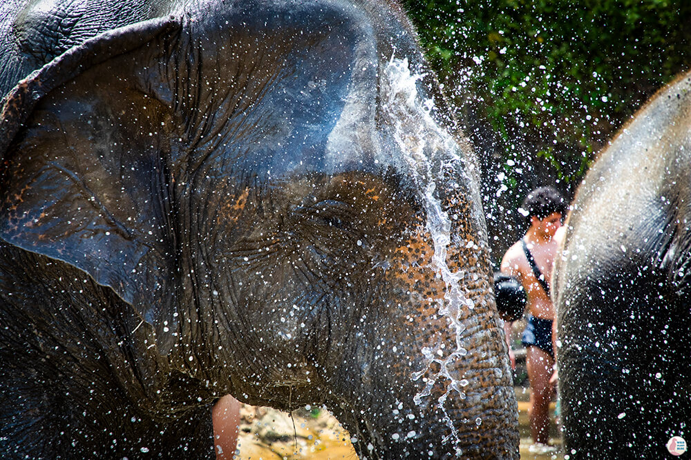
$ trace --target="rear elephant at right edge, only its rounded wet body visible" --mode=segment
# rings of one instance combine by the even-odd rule
[[[556,261],[571,459],[671,458],[691,421],[691,74],[656,94],[576,192]]]

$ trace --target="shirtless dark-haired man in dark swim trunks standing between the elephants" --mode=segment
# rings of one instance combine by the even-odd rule
[[[551,379],[554,368],[556,338],[553,334],[554,306],[549,298],[552,265],[560,239],[563,238],[562,217],[566,202],[562,195],[551,187],[533,190],[523,201],[519,212],[530,219],[530,227],[524,237],[507,250],[502,259],[501,271],[518,278],[528,297],[528,325],[523,332],[522,343],[526,350],[526,366],[531,386],[530,427],[533,438],[531,450],[547,452],[549,439],[549,402],[555,390],[556,379]],[[527,248],[527,250],[526,250]],[[536,277],[529,261],[529,254],[539,272]],[[547,288],[547,289],[546,289]],[[513,323],[507,322],[504,330],[507,341],[511,337]],[[511,348],[509,347],[509,350]],[[512,366],[515,366],[513,352]]]

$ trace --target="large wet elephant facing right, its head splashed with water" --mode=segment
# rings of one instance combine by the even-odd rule
[[[0,7],[0,452],[518,457],[473,150],[388,0]]]

